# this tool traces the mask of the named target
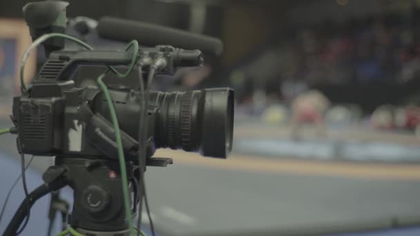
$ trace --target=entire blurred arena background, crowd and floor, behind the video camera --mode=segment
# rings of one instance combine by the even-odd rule
[[[11,126],[17,67],[30,43],[21,20],[26,2],[0,1],[1,127]],[[159,150],[174,165],[148,168],[160,235],[420,235],[420,1],[77,0],[67,12],[68,34],[95,48],[124,46],[99,39],[102,16],[225,43],[204,67],[153,84],[236,92],[229,159]],[[42,50],[35,56],[28,73],[45,60]],[[82,86],[97,75],[80,68],[74,79]],[[0,140],[2,204],[19,156],[15,137]],[[34,159],[30,188],[51,164]],[[23,198],[21,186],[13,198],[0,230]],[[22,235],[46,232],[48,199],[37,209]]]

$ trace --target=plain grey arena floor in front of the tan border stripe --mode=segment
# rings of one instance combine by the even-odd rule
[[[0,151],[17,157],[10,135],[0,137]],[[38,157],[35,166],[49,163]],[[175,158],[173,166],[148,168],[146,186],[162,235],[325,235],[420,224],[420,180],[235,170]]]

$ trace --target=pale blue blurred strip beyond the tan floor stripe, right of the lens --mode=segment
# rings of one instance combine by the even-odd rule
[[[233,151],[266,157],[297,157],[302,159],[343,159],[347,161],[420,162],[420,147],[374,141],[239,137]]]

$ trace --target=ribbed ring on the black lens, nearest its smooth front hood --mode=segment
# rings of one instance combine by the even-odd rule
[[[182,103],[181,103],[181,142],[182,142],[182,149],[185,151],[193,150],[193,144],[191,140],[192,102],[193,102],[193,91],[185,92],[184,96],[182,96]]]

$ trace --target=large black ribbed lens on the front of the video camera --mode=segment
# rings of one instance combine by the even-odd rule
[[[232,150],[233,90],[212,88],[153,95],[159,113],[157,148],[182,149],[206,157],[226,158]]]

